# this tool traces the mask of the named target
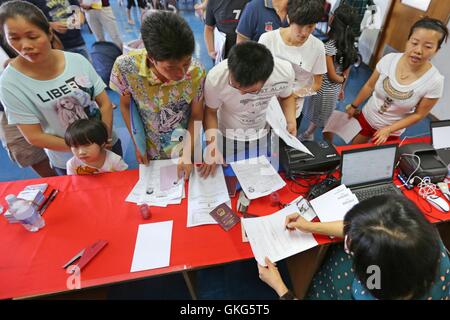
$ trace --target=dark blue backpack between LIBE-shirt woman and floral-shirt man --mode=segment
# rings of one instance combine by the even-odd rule
[[[92,45],[92,65],[108,87],[112,67],[120,55],[122,50],[112,42],[97,41]]]

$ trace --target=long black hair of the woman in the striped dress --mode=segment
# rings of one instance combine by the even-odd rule
[[[348,4],[341,4],[333,14],[328,36],[334,40],[337,48],[335,61],[347,69],[356,62],[358,52],[355,48],[353,27],[358,23],[356,10]]]

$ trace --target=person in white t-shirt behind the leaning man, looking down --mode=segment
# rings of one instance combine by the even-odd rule
[[[275,57],[289,61],[294,68],[298,126],[304,97],[319,91],[322,75],[327,73],[325,47],[312,35],[323,13],[323,4],[319,0],[290,0],[289,27],[263,33],[259,38],[259,43],[264,44]]]

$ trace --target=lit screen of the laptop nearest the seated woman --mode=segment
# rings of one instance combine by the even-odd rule
[[[344,151],[341,183],[350,188],[392,181],[396,155],[396,144]]]

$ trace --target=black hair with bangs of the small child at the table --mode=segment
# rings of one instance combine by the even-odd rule
[[[106,125],[97,119],[79,119],[71,123],[64,134],[69,147],[78,147],[96,143],[103,146],[108,142]]]

